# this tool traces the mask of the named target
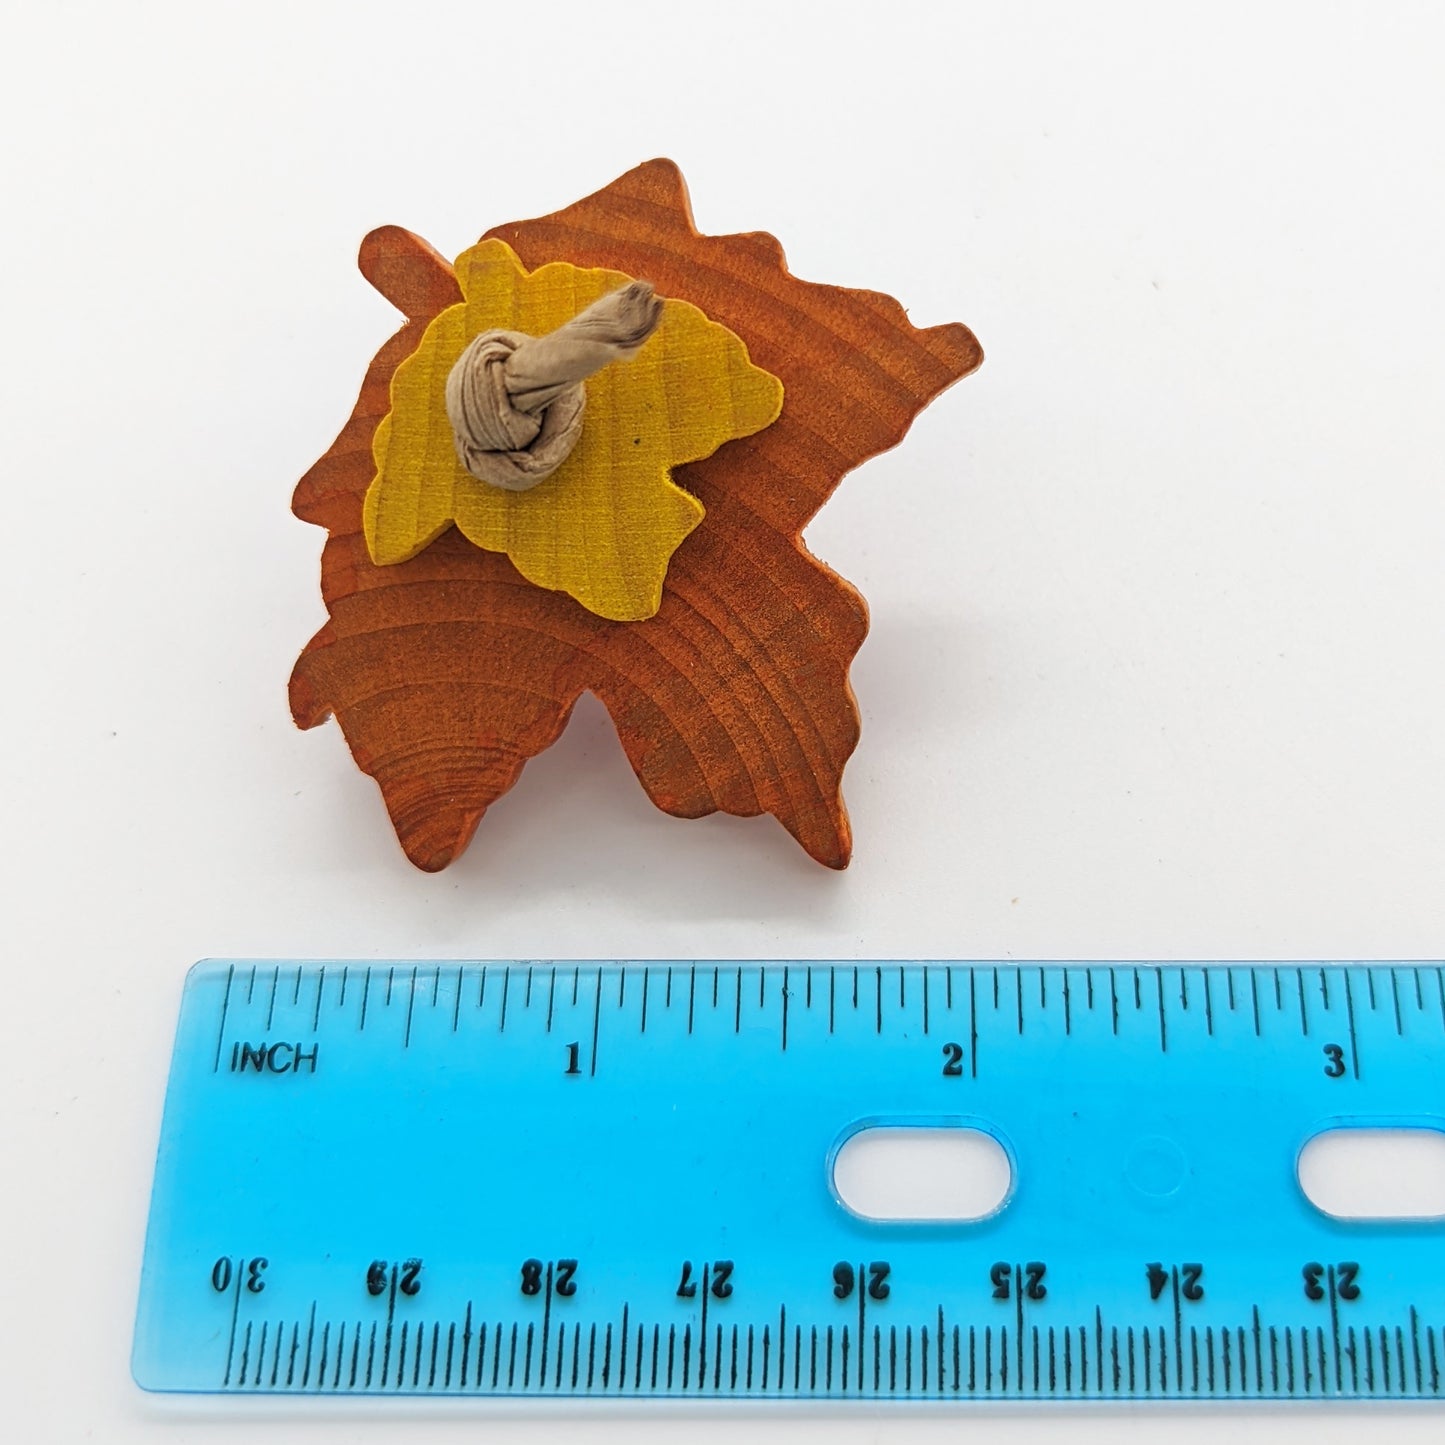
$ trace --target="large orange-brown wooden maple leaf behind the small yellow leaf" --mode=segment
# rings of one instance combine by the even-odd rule
[[[980,364],[978,342],[962,325],[912,327],[889,296],[798,280],[770,236],[699,236],[666,160],[487,234],[532,269],[607,267],[699,306],[782,379],[782,416],[676,470],[707,517],[675,553],[662,607],[646,621],[600,618],[455,530],[407,562],[374,566],[361,501],[390,377],[461,296],[425,241],[373,231],[363,275],[407,324],[377,353],[350,420],[296,488],[296,514],[329,532],[331,614],[292,673],[298,725],[338,720],[420,868],[442,868],[465,848],[584,691],[605,704],[660,809],[769,812],[819,863],[845,867],[841,776],[858,740],[848,666],[867,608],[799,530],[847,471],[902,441],[933,396]]]

